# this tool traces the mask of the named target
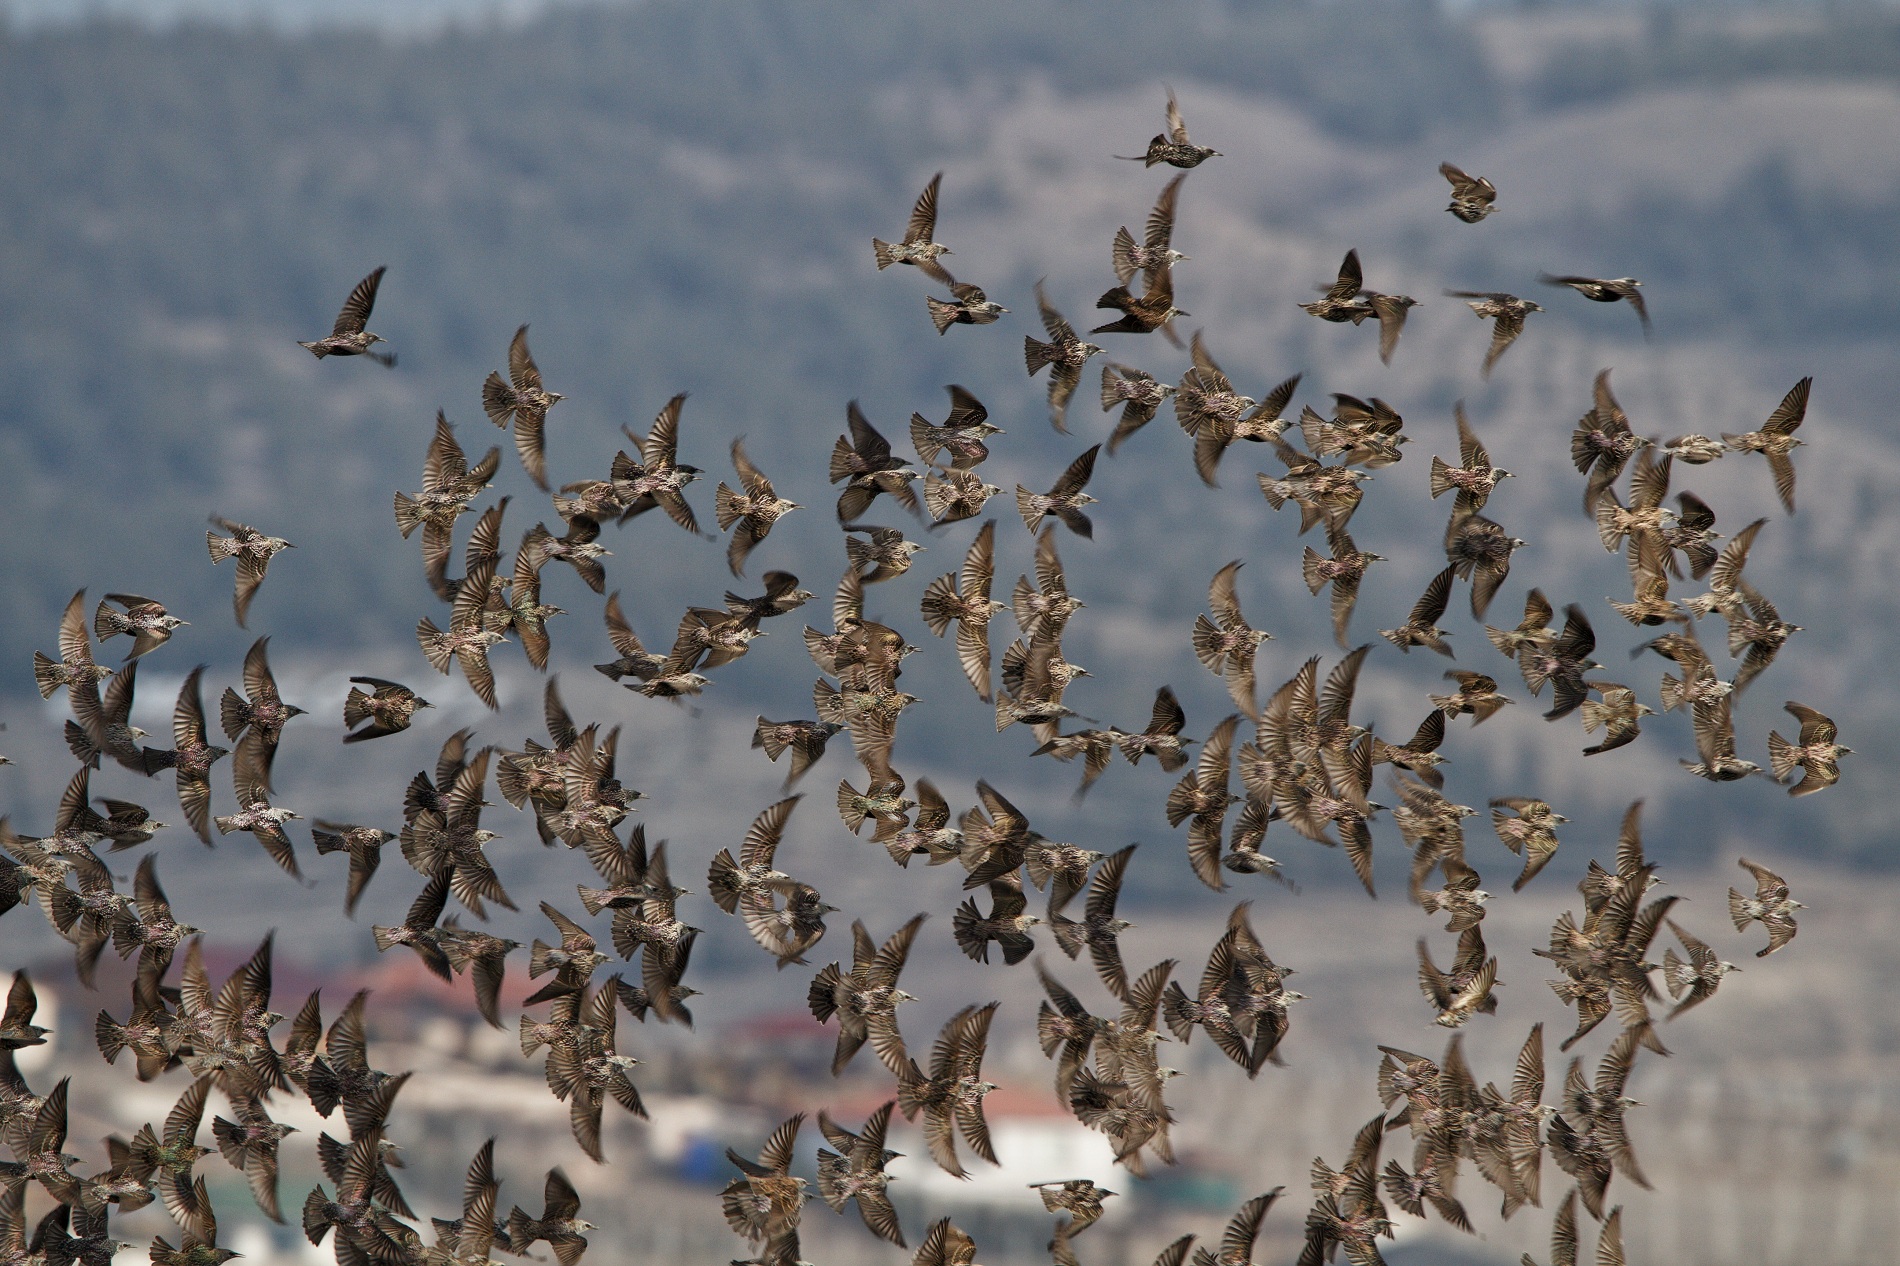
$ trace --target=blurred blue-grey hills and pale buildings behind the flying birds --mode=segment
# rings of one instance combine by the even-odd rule
[[[1264,395],[1303,373],[1296,405],[1324,411],[1328,393],[1349,392],[1406,416],[1408,460],[1376,471],[1353,523],[1358,544],[1387,557],[1362,587],[1353,644],[1402,622],[1440,566],[1448,508],[1429,498],[1425,466],[1433,452],[1454,454],[1452,405],[1463,399],[1495,460],[1518,475],[1486,513],[1530,542],[1490,620],[1514,622],[1530,585],[1560,606],[1583,603],[1609,675],[1651,698],[1664,665],[1624,667],[1645,635],[1604,603],[1628,578],[1579,513],[1583,481],[1568,460],[1590,382],[1611,367],[1636,432],[1666,439],[1754,430],[1813,374],[1797,515],[1780,509],[1752,456],[1678,470],[1676,487],[1708,500],[1723,532],[1769,517],[1748,572],[1805,631],[1737,707],[1740,751],[1765,764],[1767,730],[1790,732],[1782,700],[1801,700],[1835,717],[1856,749],[1837,789],[1794,802],[1767,779],[1693,779],[1678,768],[1695,758],[1682,715],[1651,719],[1634,745],[1585,762],[1577,720],[1541,720],[1461,599],[1454,604],[1457,665],[1497,673],[1520,703],[1482,730],[1452,728],[1446,793],[1476,806],[1539,795],[1571,817],[1560,855],[1522,893],[1505,892],[1516,859],[1472,819],[1471,861],[1503,893],[1486,937],[1507,988],[1499,1013],[1467,1028],[1467,1047],[1480,1082],[1505,1082],[1533,1021],[1552,1038],[1568,1032],[1545,964],[1528,950],[1560,911],[1579,909],[1571,884],[1590,857],[1611,859],[1617,821],[1644,798],[1649,855],[1664,865],[1666,892],[1689,899],[1678,922],[1746,971],[1672,1025],[1674,1057],[1645,1059],[1632,1082],[1647,1104],[1632,1133],[1655,1192],[1621,1179],[1611,1190],[1628,1205],[1630,1258],[1818,1266],[1900,1253],[1900,878],[1890,812],[1879,806],[1900,749],[1889,669],[1900,614],[1890,426],[1900,10],[1317,0],[13,0],[6,10],[0,532],[11,547],[0,553],[10,595],[0,662],[17,671],[0,681],[0,751],[13,760],[0,770],[0,804],[23,833],[51,829],[72,772],[59,738],[65,701],[42,703],[25,665],[32,650],[53,650],[59,610],[82,585],[91,599],[152,595],[192,622],[141,665],[133,720],[158,736],[194,663],[211,665],[211,698],[238,682],[251,639],[272,637],[283,696],[312,711],[291,724],[277,762],[277,802],[304,817],[393,829],[403,785],[433,768],[458,726],[504,747],[542,736],[543,682],[519,648],[494,656],[500,715],[428,671],[412,629],[446,608],[424,584],[416,542],[390,519],[391,494],[420,487],[437,409],[471,458],[507,445],[486,424],[479,388],[526,321],[549,388],[566,393],[547,426],[557,485],[606,477],[627,447],[621,428],[644,433],[667,397],[690,392],[680,460],[707,471],[688,489],[703,521],[737,435],[806,506],[749,570],[794,570],[821,599],[768,625],[692,707],[597,675],[589,665],[614,658],[600,599],[566,568],[547,572],[543,599],[568,610],[551,625],[566,701],[583,724],[623,726],[621,779],[650,796],[638,815],[652,838],[671,840],[674,878],[703,890],[711,855],[779,796],[783,768],[749,749],[754,717],[809,715],[815,669],[798,625],[826,623],[844,568],[823,471],[846,401],[859,399],[902,451],[910,412],[940,418],[944,384],[967,386],[1007,430],[982,470],[1005,489],[1049,487],[1106,437],[1096,365],[1070,411],[1074,433],[1056,435],[1043,380],[1022,374],[1018,338],[1041,335],[1037,278],[1079,327],[1094,323],[1092,297],[1113,283],[1115,228],[1138,230],[1174,175],[1112,158],[1140,152],[1161,127],[1167,87],[1195,141],[1224,152],[1182,190],[1174,245],[1193,259],[1176,270],[1176,302],[1193,316],[1180,325],[1205,331],[1241,392]],[[1444,215],[1442,160],[1490,177],[1501,213],[1478,226]],[[948,262],[1013,310],[942,338],[923,312],[933,287],[912,270],[878,274],[868,251],[868,238],[901,234],[939,169]],[[1368,285],[1423,300],[1391,367],[1370,329],[1322,325],[1294,306],[1347,247],[1360,251]],[[390,336],[399,367],[317,363],[296,348],[329,329],[376,264],[390,272],[370,327]],[[1539,272],[1642,278],[1653,340],[1626,308],[1547,291]],[[1446,287],[1512,291],[1548,312],[1486,382],[1490,327],[1442,298]],[[1100,342],[1167,382],[1188,365],[1159,338]],[[1068,656],[1092,673],[1068,696],[1077,711],[1140,728],[1168,682],[1188,734],[1205,738],[1229,703],[1193,660],[1188,629],[1208,576],[1237,557],[1248,561],[1243,606],[1275,635],[1260,654],[1262,694],[1309,654],[1338,654],[1324,599],[1300,582],[1298,523],[1260,498],[1260,470],[1277,473],[1271,452],[1237,449],[1222,487],[1201,487],[1167,412],[1102,460],[1089,489],[1102,500],[1094,542],[1060,540],[1070,587],[1089,604],[1066,635]],[[515,498],[505,546],[538,519],[555,523],[513,452],[488,498],[498,494]],[[874,519],[910,527],[884,506]],[[1030,570],[1034,540],[1007,498],[992,509],[1007,589]],[[211,513],[298,544],[274,563],[249,633],[230,620],[230,568],[207,566]],[[1106,1142],[1056,1108],[1034,1045],[1030,968],[980,968],[956,950],[958,869],[891,869],[882,848],[832,819],[832,779],[857,777],[836,743],[779,852],[781,869],[842,907],[813,968],[849,958],[851,918],[884,937],[931,911],[904,981],[920,996],[902,1015],[912,1047],[961,1006],[1003,1002],[986,1070],[1003,1085],[990,1116],[1005,1167],[958,1184],[918,1161],[922,1139],[899,1135],[893,1146],[910,1152],[893,1163],[904,1226],[916,1243],[929,1218],[954,1213],[980,1260],[1039,1260],[1049,1218],[1024,1184],[1096,1177],[1123,1196],[1079,1243],[1083,1260],[1148,1262],[1188,1230],[1218,1236],[1239,1201],[1284,1184],[1262,1258],[1290,1260],[1307,1165],[1319,1154],[1338,1161],[1379,1110],[1376,1045],[1442,1047],[1414,985],[1414,943],[1434,937],[1444,962],[1450,937],[1404,903],[1404,854],[1387,817],[1374,827],[1383,897],[1372,903],[1341,855],[1282,827],[1265,850],[1298,893],[1248,876],[1229,893],[1206,892],[1161,815],[1172,779],[1151,764],[1117,762],[1072,802],[1079,770],[1030,760],[1034,741],[1020,730],[994,734],[990,709],[916,618],[923,585],[956,566],[975,527],[912,530],[929,551],[912,574],[870,591],[870,614],[925,646],[904,673],[923,703],[904,717],[897,766],[912,781],[929,776],[956,810],[988,777],[1053,838],[1104,852],[1138,840],[1123,899],[1138,924],[1125,937],[1136,969],[1167,956],[1197,975],[1231,905],[1252,899],[1267,949],[1298,968],[1307,1000],[1282,1047],[1288,1066],[1256,1082],[1205,1040],[1168,1049],[1163,1063],[1186,1074],[1170,1084],[1182,1163],[1146,1182],[1115,1171]],[[661,515],[610,527],[602,544],[614,551],[608,587],[648,644],[667,644],[688,604],[716,604],[728,585],[756,591],[756,580],[732,582],[720,544]],[[1704,629],[1704,641],[1720,633]],[[103,654],[116,658],[110,644]],[[1378,643],[1357,719],[1410,736],[1444,667]],[[346,679],[365,673],[407,681],[437,709],[408,734],[344,749]],[[230,806],[226,770],[215,776],[217,812]],[[167,781],[108,764],[93,789],[175,819]],[[564,893],[593,878],[583,857],[543,850],[505,804],[484,825],[502,833],[488,854],[528,911],[498,912],[490,930],[524,943],[545,935],[536,901],[574,907]],[[695,893],[682,916],[705,928],[690,977],[705,994],[694,1000],[697,1025],[623,1021],[621,1049],[644,1061],[635,1082],[654,1120],[631,1123],[610,1108],[612,1165],[597,1167],[572,1144],[538,1065],[481,1025],[466,985],[452,992],[407,954],[374,954],[369,926],[401,922],[416,876],[391,854],[352,922],[342,859],[314,857],[302,825],[293,838],[310,888],[241,836],[207,852],[171,829],[150,848],[180,918],[211,930],[215,969],[276,928],[279,1009],[317,985],[327,1011],[352,988],[376,990],[372,1063],[420,1070],[391,1137],[407,1148],[405,1188],[426,1215],[456,1209],[467,1158],[496,1133],[504,1205],[538,1209],[542,1171],[564,1165],[585,1217],[602,1224],[593,1249],[602,1260],[726,1260],[743,1243],[718,1217],[716,1190],[732,1175],[722,1148],[756,1154],[790,1112],[823,1106],[855,1122],[893,1093],[868,1057],[846,1080],[826,1076],[832,1034],[804,1007],[809,971],[773,971],[737,920]],[[1746,882],[1738,855],[1773,865],[1811,907],[1801,937],[1761,964],[1759,933],[1735,937],[1723,916],[1723,890]],[[124,1007],[124,979],[103,969],[97,996],[80,990],[70,950],[36,912],[6,918],[0,945],[0,966],[32,968],[57,1013],[40,1021],[57,1034],[32,1053],[30,1076],[38,1089],[76,1076],[72,1146],[93,1163],[101,1135],[160,1120],[182,1082],[139,1085],[97,1061],[87,1017]],[[1108,1006],[1087,964],[1043,949],[1072,988]],[[528,992],[522,975],[517,958],[509,1004]],[[1586,1066],[1607,1038],[1579,1047]],[[1552,1049],[1547,1099],[1562,1068]],[[293,1205],[315,1180],[308,1142],[323,1123],[285,1120],[306,1129],[287,1144]],[[808,1137],[808,1173],[811,1146]],[[236,1171],[213,1160],[207,1173],[230,1247],[262,1260],[327,1256],[256,1217]],[[1400,1218],[1395,1266],[1545,1258],[1541,1211],[1503,1222],[1490,1188],[1467,1182],[1480,1234]],[[1552,1169],[1545,1190],[1556,1184]],[[154,1207],[116,1234],[144,1243],[171,1232]],[[904,1260],[855,1217],[815,1203],[806,1255]]]

